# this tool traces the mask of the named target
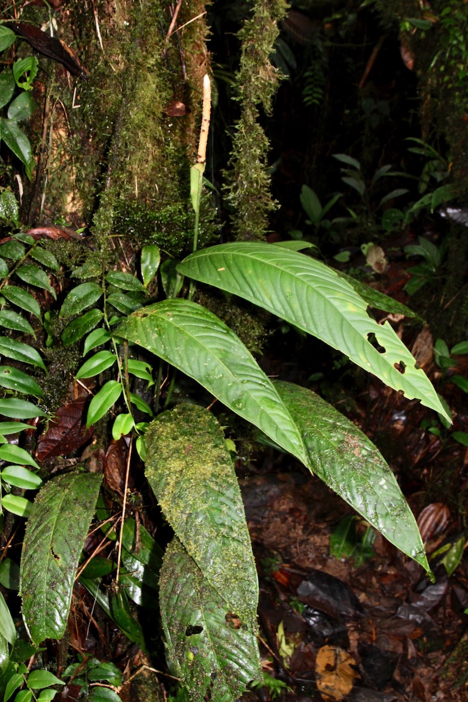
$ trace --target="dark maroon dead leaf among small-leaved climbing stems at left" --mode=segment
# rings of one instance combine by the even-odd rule
[[[57,410],[48,424],[48,429],[37,441],[36,456],[39,461],[48,461],[56,456],[69,456],[93,435],[93,428],[84,425],[85,400],[72,400]]]

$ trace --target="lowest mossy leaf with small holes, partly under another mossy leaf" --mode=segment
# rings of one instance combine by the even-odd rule
[[[164,555],[160,605],[169,668],[193,702],[207,692],[216,702],[235,702],[249,682],[263,680],[255,632],[235,628],[228,604],[177,538]]]

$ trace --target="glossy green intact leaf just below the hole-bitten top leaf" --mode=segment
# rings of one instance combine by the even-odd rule
[[[306,460],[301,435],[273,383],[212,312],[188,300],[164,300],[136,310],[115,333],[176,366],[285,451]]]

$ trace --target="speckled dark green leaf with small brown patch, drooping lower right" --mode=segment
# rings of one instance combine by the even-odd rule
[[[308,468],[429,571],[415,517],[370,439],[315,392],[284,382],[276,382],[275,388],[302,433]]]

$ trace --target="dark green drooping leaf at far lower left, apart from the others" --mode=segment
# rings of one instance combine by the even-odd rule
[[[36,644],[60,639],[75,570],[93,517],[102,475],[74,472],[50,480],[27,521],[20,567],[22,616]]]

